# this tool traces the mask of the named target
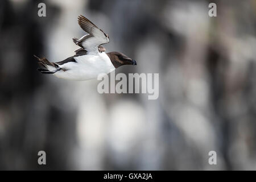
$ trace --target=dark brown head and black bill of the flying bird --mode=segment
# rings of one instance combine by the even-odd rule
[[[112,64],[115,68],[118,68],[122,65],[137,65],[136,61],[134,59],[131,59],[130,57],[127,57],[121,52],[108,52],[107,55],[109,56],[109,59],[112,61]]]

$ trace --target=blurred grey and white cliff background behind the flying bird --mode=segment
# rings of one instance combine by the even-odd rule
[[[137,60],[116,74],[159,73],[158,100],[36,71],[74,55],[80,14]],[[0,169],[255,170],[255,27],[255,0],[0,1]]]

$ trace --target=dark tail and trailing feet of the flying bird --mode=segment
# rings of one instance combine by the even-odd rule
[[[35,56],[35,55],[34,55]],[[48,61],[45,57],[38,57],[35,56],[36,59],[38,59],[38,64],[43,68],[38,68],[38,71],[44,74],[53,74],[59,71],[61,68],[56,63],[51,63]]]

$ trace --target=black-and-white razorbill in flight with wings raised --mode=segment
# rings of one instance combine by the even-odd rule
[[[122,65],[137,65],[134,59],[121,52],[106,53],[102,44],[109,43],[108,34],[85,16],[79,15],[77,19],[79,26],[88,34],[80,39],[73,38],[73,43],[80,47],[75,55],[58,62],[34,55],[40,65],[38,71],[67,80],[82,81],[97,78],[101,73],[108,74]]]

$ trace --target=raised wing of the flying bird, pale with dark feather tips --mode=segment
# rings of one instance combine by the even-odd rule
[[[102,44],[109,43],[109,36],[106,35],[100,28],[90,22],[89,19],[80,15],[78,23],[82,30],[88,35],[82,36],[81,39],[73,39],[73,42],[78,46],[84,48],[88,52],[98,52],[98,47]]]

